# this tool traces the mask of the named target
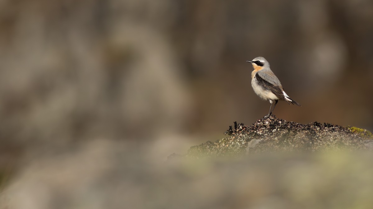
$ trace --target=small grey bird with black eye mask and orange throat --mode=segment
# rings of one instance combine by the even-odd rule
[[[253,72],[251,72],[251,86],[253,87],[254,92],[261,99],[269,100],[271,103],[267,116],[272,114],[279,99],[284,100],[285,102],[289,103],[289,105],[292,103],[293,105],[295,104],[301,106],[285,93],[279,79],[271,71],[269,62],[264,59],[264,57],[256,57],[255,59],[247,62],[250,62],[254,68]],[[271,110],[273,101],[275,101],[275,105]]]

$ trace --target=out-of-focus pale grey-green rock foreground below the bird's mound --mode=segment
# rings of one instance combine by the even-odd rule
[[[373,208],[372,153],[163,163],[137,151],[128,143],[92,141],[37,159],[7,184],[0,208]]]

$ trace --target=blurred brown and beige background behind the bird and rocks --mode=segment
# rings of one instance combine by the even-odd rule
[[[279,118],[373,130],[371,0],[2,0],[0,10],[4,172],[93,140],[145,144],[164,160],[223,138],[269,110],[251,88],[246,60],[257,56],[302,105],[280,101]]]

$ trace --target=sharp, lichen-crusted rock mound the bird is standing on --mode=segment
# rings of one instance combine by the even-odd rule
[[[226,138],[191,147],[186,156],[238,156],[272,151],[372,149],[372,133],[356,128],[314,122],[303,125],[271,115],[251,126],[237,124]]]

